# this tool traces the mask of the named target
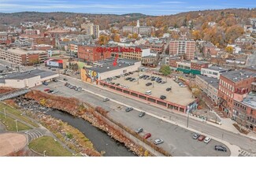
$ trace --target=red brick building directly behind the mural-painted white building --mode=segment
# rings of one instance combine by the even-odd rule
[[[110,51],[98,52],[97,46],[78,46],[77,56],[85,61],[102,61],[111,57]]]

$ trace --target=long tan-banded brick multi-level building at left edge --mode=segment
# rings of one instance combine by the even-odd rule
[[[0,50],[0,59],[11,62],[13,65],[34,65],[46,61],[48,54],[43,50]]]

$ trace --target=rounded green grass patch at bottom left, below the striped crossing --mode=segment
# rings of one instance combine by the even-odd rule
[[[50,136],[43,136],[39,139],[35,139],[29,143],[29,148],[35,150],[38,153],[42,153],[46,150],[46,156],[51,157],[71,157],[72,153],[61,146],[61,144]]]

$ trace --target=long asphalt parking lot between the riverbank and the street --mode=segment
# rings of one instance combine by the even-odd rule
[[[69,81],[69,83],[72,82]],[[72,84],[76,85],[75,83]],[[77,83],[77,85],[87,89],[87,85],[84,83]],[[35,89],[40,91],[43,91],[45,88],[58,90],[59,92],[54,95],[79,98],[80,100],[88,102],[91,105],[100,105],[102,108],[109,110],[109,116],[111,118],[133,130],[143,127],[143,132],[141,132],[139,135],[143,136],[146,133],[150,133],[152,136],[147,139],[150,142],[154,142],[155,139],[163,139],[164,142],[159,146],[164,150],[167,150],[173,156],[224,157],[230,155],[230,150],[227,152],[214,150],[215,145],[224,146],[224,144],[221,142],[217,142],[212,139],[208,144],[206,144],[205,142],[192,139],[192,135],[194,134],[193,131],[188,131],[187,129],[174,124],[166,123],[147,114],[143,117],[139,117],[139,112],[136,110],[132,110],[131,112],[127,113],[125,112],[126,107],[124,105],[120,105],[112,101],[103,102],[103,98],[98,97],[95,94],[90,94],[86,91],[74,91],[73,89],[69,89],[69,87],[65,87],[64,83],[60,81],[57,83],[51,82],[48,86],[35,87]]]

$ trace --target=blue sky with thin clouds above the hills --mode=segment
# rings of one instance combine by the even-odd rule
[[[204,9],[255,7],[255,0],[0,0],[0,13],[36,11],[168,15]]]

